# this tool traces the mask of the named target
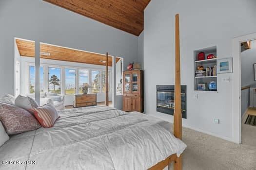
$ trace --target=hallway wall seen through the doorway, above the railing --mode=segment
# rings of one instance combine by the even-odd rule
[[[251,41],[251,49],[241,52],[241,86],[252,85],[256,63],[256,40]]]

